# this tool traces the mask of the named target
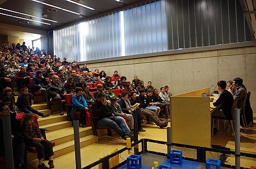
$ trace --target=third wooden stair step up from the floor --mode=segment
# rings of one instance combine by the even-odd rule
[[[49,111],[51,113],[51,110]],[[49,124],[60,122],[60,121],[67,121],[67,115],[60,116],[60,114],[58,113],[58,114],[52,114],[51,116],[48,116],[45,118],[38,118],[39,126],[49,125]]]

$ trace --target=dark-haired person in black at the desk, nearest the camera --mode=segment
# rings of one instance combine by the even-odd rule
[[[218,106],[221,104],[221,106],[219,107],[218,110],[211,113],[211,116],[231,118],[232,117],[231,107],[234,101],[233,96],[229,91],[225,90],[225,88],[227,87],[226,81],[219,81],[217,85],[218,85],[218,90],[221,92],[221,94],[218,100],[216,100],[213,103],[213,105]],[[213,125],[215,126],[215,124]],[[218,130],[214,128],[214,133],[216,133],[217,131]]]

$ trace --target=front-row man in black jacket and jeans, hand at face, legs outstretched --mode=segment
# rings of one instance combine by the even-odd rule
[[[104,93],[98,93],[95,102],[92,103],[93,116],[99,117],[97,125],[107,126],[115,130],[115,132],[124,138],[131,137],[131,131],[126,126],[124,118],[115,116],[115,112],[107,104],[106,95]]]

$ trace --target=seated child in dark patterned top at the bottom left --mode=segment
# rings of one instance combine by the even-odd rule
[[[48,168],[43,163],[44,158],[49,158],[48,165],[50,168],[54,168],[53,165],[53,149],[52,143],[43,138],[39,127],[33,123],[33,115],[26,114],[22,117],[21,126],[24,134],[24,140],[26,145],[37,148],[37,158],[39,160],[38,168]]]

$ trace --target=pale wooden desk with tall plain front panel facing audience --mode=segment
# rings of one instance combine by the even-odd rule
[[[211,147],[211,112],[209,88],[171,96],[171,142]]]

